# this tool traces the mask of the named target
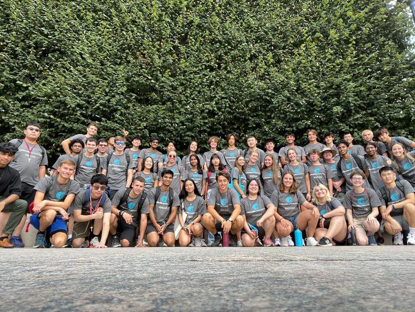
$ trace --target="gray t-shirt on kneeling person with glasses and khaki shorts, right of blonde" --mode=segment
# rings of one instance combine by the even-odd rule
[[[346,193],[344,201],[344,207],[352,210],[354,218],[367,217],[372,213],[372,208],[377,208],[381,205],[382,203],[378,195],[371,188],[366,188],[362,193],[350,190]]]

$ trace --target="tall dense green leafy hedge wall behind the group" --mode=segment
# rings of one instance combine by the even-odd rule
[[[414,26],[387,2],[0,0],[1,140],[28,120],[51,159],[90,121],[181,150],[310,127],[413,137]]]

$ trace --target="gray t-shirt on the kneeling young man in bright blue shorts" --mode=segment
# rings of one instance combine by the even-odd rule
[[[69,179],[68,183],[61,185],[58,183],[58,176],[45,176],[33,189],[44,193],[44,199],[52,202],[64,202],[66,195],[79,193],[79,184],[76,181]]]

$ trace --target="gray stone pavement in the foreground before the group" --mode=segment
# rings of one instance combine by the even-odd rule
[[[414,311],[415,246],[0,250],[0,311]]]

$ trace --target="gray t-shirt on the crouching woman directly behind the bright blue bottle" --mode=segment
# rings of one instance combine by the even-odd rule
[[[300,213],[298,204],[304,204],[307,200],[300,191],[297,193],[285,193],[279,189],[271,195],[271,202],[277,207],[277,212],[282,217],[293,217]]]

